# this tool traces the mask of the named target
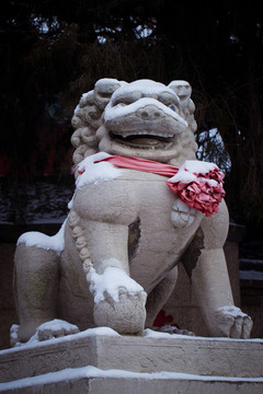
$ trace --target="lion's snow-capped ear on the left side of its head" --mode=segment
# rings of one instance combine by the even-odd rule
[[[112,94],[121,86],[121,82],[112,78],[103,78],[96,81],[94,86],[94,102],[100,109],[104,109]]]

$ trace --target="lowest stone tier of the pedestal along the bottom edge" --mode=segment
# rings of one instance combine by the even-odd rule
[[[30,382],[28,382],[30,383]],[[2,394],[261,394],[262,380],[233,381],[231,379],[144,379],[133,378],[81,378],[76,380],[25,385],[23,387],[0,390]]]

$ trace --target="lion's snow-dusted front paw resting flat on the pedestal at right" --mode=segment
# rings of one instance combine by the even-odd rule
[[[253,322],[237,306],[218,308],[216,320],[220,332],[229,338],[249,338]]]

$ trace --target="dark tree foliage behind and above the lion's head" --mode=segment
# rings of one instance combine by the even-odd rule
[[[70,172],[72,111],[98,79],[184,79],[193,86],[197,140],[198,134],[217,128],[230,157],[226,189],[231,217],[262,236],[259,1],[5,0],[1,8],[4,175]],[[217,160],[210,140],[213,149]]]

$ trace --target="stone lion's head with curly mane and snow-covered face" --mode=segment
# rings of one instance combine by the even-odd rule
[[[185,81],[165,86],[151,80],[99,80],[82,95],[72,117],[73,163],[99,151],[173,165],[195,159],[191,92]]]

